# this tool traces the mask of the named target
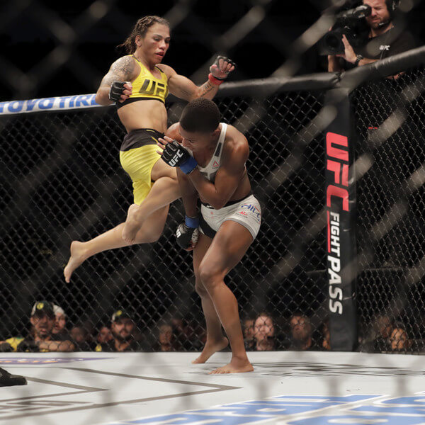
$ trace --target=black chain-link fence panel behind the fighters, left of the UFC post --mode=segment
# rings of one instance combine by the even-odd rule
[[[324,95],[290,91],[254,98],[245,92],[242,87],[239,96],[217,98],[217,104],[223,120],[237,123],[249,140],[246,166],[263,224],[227,284],[242,318],[271,314],[275,348],[283,349],[291,344],[291,314],[305,314],[317,332],[325,317],[324,285],[308,273],[325,261],[323,223],[314,221],[324,196],[323,136],[311,124]],[[170,123],[181,108],[169,105]],[[33,303],[49,300],[67,314],[69,329],[85,322],[95,335],[121,309],[137,324],[137,349],[158,349],[163,323],[174,328],[174,348],[202,348],[191,254],[176,246],[174,236],[183,220],[180,200],[171,205],[159,242],[97,254],[64,282],[70,242],[123,222],[132,203],[131,182],[118,159],[125,130],[115,108],[26,113],[3,117],[0,125],[0,281],[7,301],[0,339],[26,336]],[[310,140],[298,135],[305,128]]]

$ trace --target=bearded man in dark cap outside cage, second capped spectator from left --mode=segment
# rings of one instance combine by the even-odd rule
[[[135,339],[136,324],[130,315],[117,310],[112,315],[111,333],[113,339],[97,344],[95,351],[139,351],[140,346]]]

